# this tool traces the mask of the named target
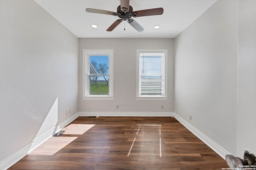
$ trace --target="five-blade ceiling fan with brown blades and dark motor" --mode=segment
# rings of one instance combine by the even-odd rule
[[[110,25],[107,31],[112,31],[117,25],[122,21],[126,21],[132,25],[138,32],[142,32],[144,28],[136,22],[132,17],[142,17],[142,16],[155,16],[162,15],[164,12],[163,8],[153,8],[147,10],[133,11],[132,6],[129,4],[129,0],[120,0],[120,6],[117,7],[117,12],[105,11],[105,10],[96,10],[91,8],[86,8],[86,12],[98,13],[98,14],[107,14],[112,16],[118,16],[121,19],[118,19]]]

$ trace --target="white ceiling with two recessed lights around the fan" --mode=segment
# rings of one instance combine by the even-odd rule
[[[217,0],[130,0],[134,11],[164,8],[162,15],[134,18],[144,27],[142,32],[136,31],[126,21],[108,32],[106,29],[119,19],[117,16],[85,11],[85,8],[93,8],[116,12],[120,0],[34,1],[79,38],[174,38]],[[98,28],[92,28],[92,24],[98,25]],[[154,29],[154,25],[161,27]]]

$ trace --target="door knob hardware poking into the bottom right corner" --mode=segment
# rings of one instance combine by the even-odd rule
[[[226,161],[230,168],[241,168],[245,165],[256,165],[256,157],[247,150],[244,151],[244,159],[227,154]]]

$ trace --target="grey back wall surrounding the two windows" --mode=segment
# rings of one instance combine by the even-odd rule
[[[114,100],[82,100],[83,49],[114,49]],[[136,49],[168,49],[168,100],[136,100]],[[79,39],[79,111],[172,112],[173,94],[173,39]]]

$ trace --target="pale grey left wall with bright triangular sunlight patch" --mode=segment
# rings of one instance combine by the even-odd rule
[[[0,110],[0,163],[78,112],[78,38],[33,0],[0,0]]]

